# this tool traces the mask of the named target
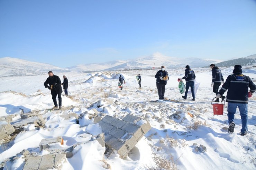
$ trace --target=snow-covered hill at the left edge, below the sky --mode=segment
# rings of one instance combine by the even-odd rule
[[[60,67],[51,64],[31,62],[17,58],[0,58],[0,77],[5,76],[33,76],[45,74],[48,71],[64,71]]]

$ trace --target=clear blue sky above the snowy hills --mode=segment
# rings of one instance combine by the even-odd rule
[[[256,0],[0,0],[0,58],[69,67],[256,53]]]

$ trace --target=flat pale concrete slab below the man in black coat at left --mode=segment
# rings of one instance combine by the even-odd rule
[[[41,115],[39,115],[28,119],[23,119],[19,122],[12,124],[12,126],[17,128],[21,126],[26,126],[27,124],[35,124],[35,127],[40,127],[45,125],[45,120]]]

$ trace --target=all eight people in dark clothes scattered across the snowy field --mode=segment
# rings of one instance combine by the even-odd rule
[[[219,99],[221,98],[221,102],[226,98],[223,96],[223,94],[227,92],[227,98],[226,101],[228,102],[228,133],[233,133],[234,128],[236,126],[235,124],[235,113],[236,109],[238,107],[240,111],[241,116],[241,124],[242,129],[240,132],[241,136],[244,136],[248,132],[247,124],[248,124],[248,95],[252,95],[252,93],[256,90],[256,85],[253,83],[253,81],[243,74],[242,67],[240,65],[236,65],[234,67],[233,73],[230,74],[226,81],[224,82],[224,78],[222,76],[221,70],[215,66],[215,64],[211,64],[209,66],[212,69],[212,82],[211,87],[213,87],[213,92],[216,94],[216,100],[215,102],[219,102]],[[187,99],[189,88],[191,89],[192,93],[192,101],[195,101],[195,91],[194,91],[194,81],[195,81],[195,72],[190,68],[189,65],[185,67],[185,76],[181,79],[185,79],[186,81],[186,91],[185,95],[182,96],[183,99]],[[165,70],[165,66],[161,66],[161,70],[157,71],[155,78],[156,78],[156,87],[158,91],[158,97],[159,100],[164,99],[165,94],[165,86],[167,84],[167,81],[169,80],[168,72]],[[68,87],[68,80],[66,76],[63,76],[63,83],[61,83],[61,80],[58,76],[54,75],[52,71],[48,72],[49,77],[44,82],[45,88],[48,88],[51,90],[52,99],[54,102],[54,108],[61,108],[62,107],[62,88],[61,85],[63,85],[63,89],[65,92],[65,95],[68,95],[67,87]],[[141,76],[138,74],[138,83],[139,88],[141,88]],[[125,83],[125,79],[120,75],[119,76],[119,82],[121,83],[121,89],[122,90],[122,84]],[[219,87],[222,87],[219,90]],[[250,88],[250,91],[248,92],[248,88]],[[57,104],[56,97],[58,96],[59,103]]]

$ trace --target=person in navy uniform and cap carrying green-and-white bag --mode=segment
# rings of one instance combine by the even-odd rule
[[[195,100],[195,91],[194,91],[194,84],[195,84],[195,73],[193,70],[190,69],[189,65],[186,65],[185,76],[182,79],[186,80],[186,92],[185,96],[182,96],[183,99],[187,99],[189,87],[192,93],[192,100]]]

